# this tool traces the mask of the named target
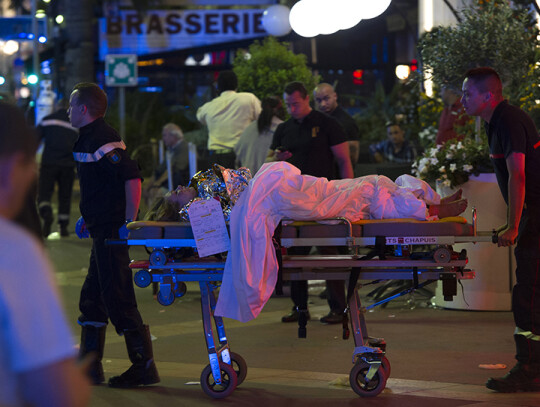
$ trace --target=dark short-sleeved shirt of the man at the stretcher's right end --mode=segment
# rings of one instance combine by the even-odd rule
[[[503,101],[486,123],[491,161],[497,182],[508,204],[506,159],[514,152],[525,154],[525,203],[540,208],[540,137],[527,113]]]

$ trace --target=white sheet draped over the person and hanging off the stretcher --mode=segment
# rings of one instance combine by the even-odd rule
[[[395,183],[379,175],[328,181],[301,175],[287,162],[264,164],[231,212],[231,250],[215,315],[242,322],[259,315],[276,284],[272,235],[282,219],[426,220],[426,204],[439,202],[427,183],[409,175]]]

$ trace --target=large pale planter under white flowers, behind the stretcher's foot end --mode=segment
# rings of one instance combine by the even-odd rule
[[[477,210],[477,230],[492,230],[506,222],[506,204],[497,185],[495,174],[485,173],[473,176],[461,185],[463,196],[469,207],[463,215],[472,221],[472,208]],[[447,195],[440,187],[437,192]],[[510,311],[511,292],[514,285],[515,259],[513,247],[497,247],[492,243],[456,244],[454,250],[467,250],[467,268],[476,271],[474,280],[462,280],[463,291],[453,301],[444,301],[442,284],[435,291],[434,303],[451,309],[476,311]]]

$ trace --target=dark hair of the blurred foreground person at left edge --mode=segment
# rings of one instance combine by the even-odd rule
[[[37,136],[26,124],[24,113],[17,106],[0,102],[0,158],[16,153],[34,158],[37,145]]]

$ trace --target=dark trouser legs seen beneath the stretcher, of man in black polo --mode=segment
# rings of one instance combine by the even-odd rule
[[[288,250],[291,255],[307,255],[311,247],[292,247]],[[338,254],[336,247],[317,247],[320,254],[332,255]],[[335,313],[341,313],[345,310],[347,304],[345,300],[345,282],[342,280],[326,281],[326,299],[330,310]],[[307,309],[308,284],[305,280],[291,281],[291,300],[298,309]]]

